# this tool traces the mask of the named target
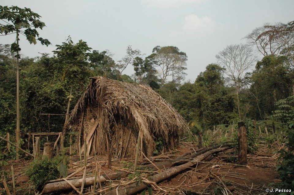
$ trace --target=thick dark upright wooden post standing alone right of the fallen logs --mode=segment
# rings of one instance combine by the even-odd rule
[[[238,123],[238,163],[247,164],[247,135],[244,122]]]

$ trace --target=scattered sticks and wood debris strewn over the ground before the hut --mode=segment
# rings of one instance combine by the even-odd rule
[[[279,181],[277,180],[277,172],[274,171],[278,153],[273,154],[273,151],[283,147],[282,145],[277,145],[277,143],[271,146],[259,145],[256,153],[248,154],[248,165],[238,166],[231,160],[236,156],[234,149],[222,146],[222,148],[225,148],[222,151],[211,153],[203,157],[203,159],[195,161],[201,156],[200,153],[212,151],[213,147],[198,149],[193,143],[180,142],[179,147],[173,151],[148,159],[139,159],[138,164],[140,166],[135,172],[133,167],[134,159],[113,158],[111,160],[111,169],[108,169],[107,156],[90,156],[87,159],[86,166],[83,160],[79,160],[79,156],[73,156],[72,167],[68,169],[68,176],[48,181],[47,183],[66,182],[71,187],[69,190],[59,192],[64,194],[79,194],[81,192],[81,186],[75,187],[71,185],[71,181],[74,179],[84,182],[85,187],[82,192],[87,195],[121,194],[119,190],[128,189],[132,185],[141,185],[143,189],[146,186],[150,187],[152,194],[156,195],[266,194],[265,189],[269,188],[268,185]],[[195,153],[199,153],[199,156],[189,158]],[[24,159],[9,161],[9,164],[14,164],[17,193],[24,192],[28,188],[28,178],[25,176],[23,167],[28,166],[30,161]],[[165,167],[168,162],[171,162],[170,166],[172,167],[182,166],[183,168],[183,164],[189,162],[193,165],[184,167],[182,171],[164,178],[162,181],[160,179],[156,180],[156,175],[163,175],[173,169]],[[84,167],[86,167],[86,171]],[[84,173],[86,173],[85,176]],[[12,183],[11,175],[8,178],[6,182]],[[95,186],[93,183],[95,183]],[[10,189],[10,192],[12,191]],[[138,193],[141,194],[141,191],[139,190]],[[148,190],[145,191],[145,194],[149,194]]]

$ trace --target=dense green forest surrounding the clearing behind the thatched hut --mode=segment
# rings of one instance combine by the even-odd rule
[[[5,7],[0,9],[1,13],[8,12]],[[148,55],[127,46],[125,57],[115,61],[109,50],[91,48],[91,43],[84,42],[83,37],[73,40],[68,36],[65,42],[56,45],[53,54],[42,53],[30,58],[19,54],[18,40],[27,39],[31,44],[39,40],[49,45],[50,40],[40,38],[36,31],[37,28],[42,30],[45,24],[36,14],[26,15],[23,21],[5,14],[0,17],[16,24],[13,27],[1,22],[0,26],[2,35],[16,35],[16,42],[11,45],[0,44],[2,137],[8,132],[10,139],[17,142],[14,135],[18,73],[21,142],[28,132],[61,132],[65,115],[40,114],[70,112],[90,77],[100,75],[149,85],[175,107],[194,134],[239,121],[282,124],[281,135],[282,138],[288,136],[285,143],[289,149],[283,150],[283,155],[287,156],[283,163],[289,166],[293,162],[293,153],[289,151],[294,145],[294,21],[264,25],[248,32],[245,44],[227,46],[216,53],[216,59],[211,59],[215,63],[207,64],[205,70],[195,75],[195,80],[185,82],[188,56],[176,46],[155,46]],[[134,67],[133,75],[124,74],[129,66]],[[4,151],[6,143],[1,142],[0,147]],[[2,159],[16,157],[12,151],[1,154]],[[283,175],[283,170],[281,175],[285,181],[293,176]]]

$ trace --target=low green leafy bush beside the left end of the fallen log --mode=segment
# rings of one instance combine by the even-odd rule
[[[60,174],[65,176],[66,160],[62,156],[49,159],[46,156],[40,156],[34,160],[26,171],[35,189],[40,190],[48,180],[59,178]]]

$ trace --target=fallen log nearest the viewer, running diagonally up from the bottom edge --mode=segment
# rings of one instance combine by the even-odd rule
[[[187,162],[185,164],[182,164],[182,165],[179,165],[177,167],[172,167],[172,168],[169,168],[168,170],[166,171],[163,171],[161,173],[158,173],[156,175],[153,175],[152,177],[149,177],[149,181],[151,182],[161,182],[173,175],[176,175],[176,174],[179,174],[180,172],[188,169],[189,167],[192,167],[193,165],[195,165],[196,163],[198,163],[198,161],[202,161],[204,160],[206,157],[208,157],[209,155],[213,154],[213,153],[217,153],[217,152],[220,152],[220,151],[224,151],[226,149],[228,149],[229,147],[223,147],[223,148],[217,148],[217,149],[213,149],[213,150],[210,150],[204,154],[201,154],[200,156],[198,156],[197,158],[195,158],[194,160],[190,161],[190,162]],[[118,190],[113,190],[113,191],[110,191],[110,192],[107,192],[105,193],[105,195],[116,195],[116,194],[119,194],[119,195],[130,195],[130,194],[136,194],[144,189],[146,189],[148,187],[147,184],[145,183],[140,183],[140,184],[132,184],[130,186],[127,186],[127,187],[123,187],[123,188],[120,188]]]

